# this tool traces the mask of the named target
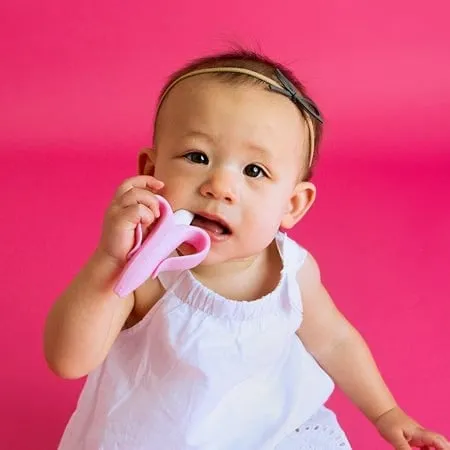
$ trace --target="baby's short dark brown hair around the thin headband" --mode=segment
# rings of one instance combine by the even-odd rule
[[[189,72],[193,72],[196,70],[202,69],[212,69],[212,68],[222,68],[222,67],[236,67],[241,69],[247,69],[254,72],[257,72],[261,75],[264,75],[274,81],[278,81],[277,71],[280,71],[287,79],[290,81],[297,92],[307,100],[307,102],[312,105],[317,111],[317,105],[314,101],[309,97],[306,92],[303,84],[298,80],[298,78],[294,75],[292,70],[287,68],[281,63],[278,63],[271,58],[261,55],[256,52],[248,51],[248,50],[235,50],[225,53],[218,53],[215,55],[205,56],[190,63],[186,64],[181,69],[177,70],[173,73],[163,89],[161,90],[159,100],[161,101],[162,97],[165,95],[167,89],[180,77],[188,74]],[[214,72],[210,73],[210,76],[217,77],[225,82],[231,84],[253,84],[253,85],[263,85],[264,81],[261,81],[255,77],[246,75],[244,73],[232,73],[232,72]],[[158,111],[156,112],[158,115]],[[155,118],[155,127],[156,127],[156,119]],[[314,132],[314,148],[313,154],[307,155],[308,161],[310,164],[307,165],[308,171],[303,177],[305,180],[309,180],[312,177],[312,171],[315,166],[315,163],[318,158],[319,144],[322,136],[322,123],[315,117],[311,117],[311,123]],[[309,148],[309,145],[308,145]]]

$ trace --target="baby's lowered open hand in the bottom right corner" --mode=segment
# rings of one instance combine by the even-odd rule
[[[450,450],[444,436],[422,428],[400,408],[393,408],[380,416],[375,425],[380,434],[396,450],[411,448]]]

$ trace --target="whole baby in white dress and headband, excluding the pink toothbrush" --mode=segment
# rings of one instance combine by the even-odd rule
[[[262,56],[216,55],[172,76],[139,175],[47,319],[49,367],[88,375],[60,450],[350,449],[324,406],[334,383],[394,448],[450,450],[397,405],[316,261],[281,231],[315,200],[321,131],[304,87]],[[210,251],[119,298],[136,228],[158,221],[155,194],[194,214]]]

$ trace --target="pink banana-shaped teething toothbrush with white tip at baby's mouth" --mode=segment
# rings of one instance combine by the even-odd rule
[[[159,195],[156,197],[161,215],[143,243],[142,227],[139,225],[136,228],[136,244],[114,289],[119,297],[125,297],[147,278],[156,278],[160,272],[191,269],[208,254],[209,235],[201,228],[190,225],[194,215],[186,210],[174,213],[167,200]],[[183,243],[192,245],[196,252],[170,256]]]

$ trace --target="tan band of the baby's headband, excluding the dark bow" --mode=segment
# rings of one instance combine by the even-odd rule
[[[199,70],[193,70],[192,72],[188,72],[184,75],[181,75],[176,80],[174,80],[162,93],[161,98],[159,100],[158,109],[159,111],[162,102],[166,98],[167,94],[170,92],[170,90],[178,84],[180,81],[185,80],[186,78],[190,78],[196,75],[202,75],[205,73],[243,73],[245,75],[248,75],[253,78],[257,78],[258,80],[264,81],[265,83],[269,84],[270,86],[273,86],[278,89],[283,89],[283,86],[279,83],[277,83],[275,80],[272,80],[272,78],[266,77],[265,75],[262,75],[261,73],[255,72],[254,70],[249,69],[243,69],[241,67],[210,67],[207,69],[199,69]],[[309,150],[309,167],[312,166],[313,158],[314,158],[314,144],[315,144],[315,136],[314,136],[314,126],[313,122],[311,120],[311,117],[305,113],[303,110],[300,109],[300,112],[302,116],[304,117],[306,121],[306,125],[308,126],[308,132],[309,132],[309,142],[310,142],[310,150]]]

